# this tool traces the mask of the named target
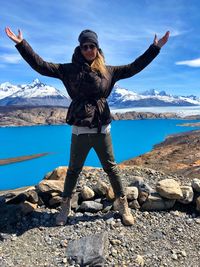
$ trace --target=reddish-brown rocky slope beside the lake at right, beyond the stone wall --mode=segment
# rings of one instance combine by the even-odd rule
[[[144,166],[166,174],[200,177],[200,131],[171,135],[153,150],[122,162],[122,165]]]

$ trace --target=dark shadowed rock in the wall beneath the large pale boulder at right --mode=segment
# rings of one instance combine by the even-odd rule
[[[151,211],[168,210],[174,206],[175,202],[176,200],[163,199],[158,193],[152,193],[141,208]]]

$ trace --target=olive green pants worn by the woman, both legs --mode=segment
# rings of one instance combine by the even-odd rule
[[[107,173],[116,197],[124,195],[119,169],[114,160],[110,133],[72,134],[70,162],[64,184],[63,197],[71,197],[79,174],[91,148],[94,148]]]

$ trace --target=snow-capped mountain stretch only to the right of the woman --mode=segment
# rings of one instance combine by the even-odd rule
[[[193,106],[200,105],[197,96],[173,96],[165,91],[151,89],[141,94],[115,85],[108,98],[112,108],[153,107],[153,106]]]

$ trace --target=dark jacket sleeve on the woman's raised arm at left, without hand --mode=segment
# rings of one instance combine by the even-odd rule
[[[37,72],[42,75],[62,79],[62,64],[54,64],[44,61],[34,52],[28,42],[23,39],[15,46],[24,60]]]

